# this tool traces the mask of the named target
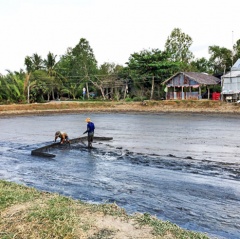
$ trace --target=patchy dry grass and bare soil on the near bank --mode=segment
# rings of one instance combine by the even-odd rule
[[[150,214],[127,215],[116,204],[88,204],[0,180],[0,238],[207,239]]]

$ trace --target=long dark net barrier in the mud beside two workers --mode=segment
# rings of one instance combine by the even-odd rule
[[[99,137],[99,136],[94,136],[94,138],[93,138],[94,141],[108,141],[108,140],[112,140],[112,139],[113,139],[112,137]],[[69,140],[70,145],[77,144],[77,143],[83,143],[83,141],[87,141],[87,136]],[[64,143],[64,145],[67,145],[67,143]],[[62,146],[62,144],[60,144],[60,142],[49,144],[49,145],[43,146],[41,148],[32,150],[31,155],[54,158],[56,155],[49,153],[49,150],[52,148],[57,148],[59,146]]]

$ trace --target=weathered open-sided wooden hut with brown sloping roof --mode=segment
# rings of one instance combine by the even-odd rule
[[[199,72],[179,72],[162,84],[166,85],[166,100],[202,99],[206,93],[210,99],[210,87],[217,85],[219,79],[215,76]]]

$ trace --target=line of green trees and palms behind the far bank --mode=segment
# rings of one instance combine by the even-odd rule
[[[209,59],[195,58],[190,50],[192,38],[175,28],[168,36],[164,49],[134,52],[126,66],[105,62],[98,66],[89,42],[79,43],[56,61],[49,52],[45,59],[34,53],[24,59],[25,70],[8,71],[0,77],[0,102],[31,103],[61,98],[83,99],[159,99],[164,95],[161,83],[180,71],[205,72],[220,77],[230,71],[240,58],[240,39],[233,49],[209,46]],[[121,91],[106,91],[106,82],[122,82]]]

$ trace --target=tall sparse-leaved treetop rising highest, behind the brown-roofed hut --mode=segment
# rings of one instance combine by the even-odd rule
[[[192,38],[179,28],[173,29],[165,43],[165,51],[170,54],[170,59],[181,62],[183,70],[193,59],[193,53],[190,51],[192,43]]]

